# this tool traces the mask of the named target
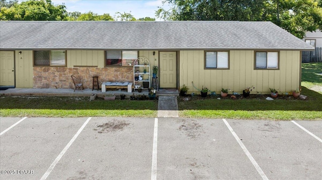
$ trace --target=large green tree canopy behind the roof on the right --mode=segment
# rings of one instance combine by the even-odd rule
[[[160,8],[166,21],[271,21],[302,38],[306,31],[322,29],[322,0],[166,0],[173,8]]]

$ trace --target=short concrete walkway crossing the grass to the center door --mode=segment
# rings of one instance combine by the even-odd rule
[[[177,96],[159,96],[157,117],[179,117]]]

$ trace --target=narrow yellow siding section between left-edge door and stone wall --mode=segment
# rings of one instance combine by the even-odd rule
[[[16,88],[33,87],[33,52],[15,51]]]

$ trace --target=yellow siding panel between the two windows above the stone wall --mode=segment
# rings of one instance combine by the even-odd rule
[[[97,66],[104,67],[104,51],[69,50],[67,51],[67,67]]]

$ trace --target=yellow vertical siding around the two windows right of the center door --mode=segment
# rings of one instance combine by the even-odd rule
[[[251,86],[255,86],[252,93],[268,93],[269,88],[285,93],[299,87],[299,51],[280,51],[278,70],[254,70],[254,51],[229,52],[229,69],[204,70],[204,51],[180,51],[180,87],[185,84],[190,93],[202,86],[217,93],[221,88],[241,93]]]

